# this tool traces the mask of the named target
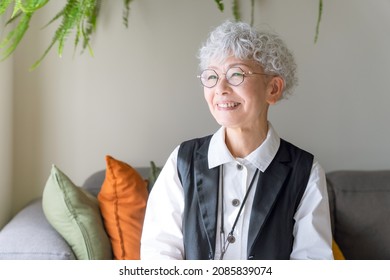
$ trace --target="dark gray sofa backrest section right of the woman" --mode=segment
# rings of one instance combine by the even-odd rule
[[[327,174],[333,236],[346,259],[390,259],[390,171]]]

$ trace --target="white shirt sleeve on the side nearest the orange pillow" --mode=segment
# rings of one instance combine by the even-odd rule
[[[141,237],[141,259],[183,259],[184,193],[177,174],[179,147],[171,153],[150,192]]]

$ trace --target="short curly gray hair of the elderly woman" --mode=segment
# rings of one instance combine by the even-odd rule
[[[297,85],[296,63],[282,39],[271,32],[257,31],[244,22],[226,21],[214,29],[199,50],[199,66],[208,67],[211,60],[222,62],[229,56],[253,59],[265,73],[276,74],[284,80],[283,98]]]

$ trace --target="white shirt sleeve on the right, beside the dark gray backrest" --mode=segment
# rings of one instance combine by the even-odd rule
[[[290,258],[333,259],[325,172],[316,160],[294,219],[294,244]]]

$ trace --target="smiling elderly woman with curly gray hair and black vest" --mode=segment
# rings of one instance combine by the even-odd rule
[[[213,135],[181,143],[150,194],[141,259],[332,259],[324,171],[268,109],[296,84],[276,35],[227,21],[200,49]]]

